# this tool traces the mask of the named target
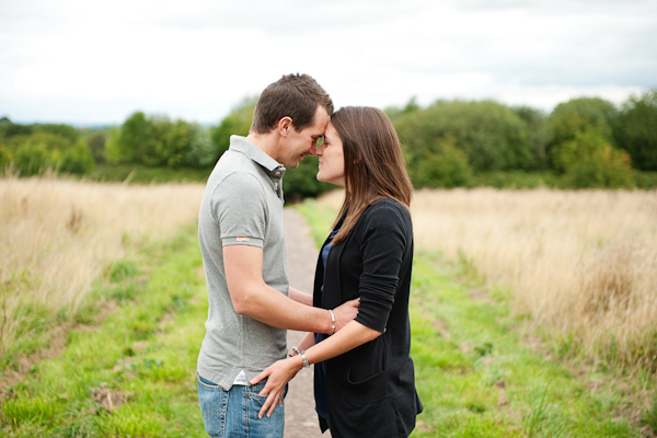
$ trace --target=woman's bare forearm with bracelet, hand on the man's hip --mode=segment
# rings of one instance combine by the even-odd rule
[[[312,336],[313,334],[309,333],[309,335]],[[380,335],[381,332],[369,328],[357,321],[351,321],[333,336],[309,347],[306,350],[306,359],[309,364],[321,362],[376,339]],[[307,338],[308,335],[303,338],[300,346],[306,345],[304,342],[307,342]],[[301,348],[299,349],[301,350]],[[258,413],[258,418],[262,418],[265,412],[267,416],[272,415],[272,412],[276,407],[276,395],[280,396],[283,394],[285,385],[292,380],[301,368],[303,368],[303,359],[300,355],[296,355],[273,364],[251,380],[251,384],[255,384],[267,378],[267,383],[260,392],[260,395],[268,394],[268,396]]]

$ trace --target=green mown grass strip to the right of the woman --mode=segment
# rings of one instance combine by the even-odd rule
[[[335,211],[307,201],[323,242]],[[416,251],[411,297],[412,357],[424,412],[413,437],[641,437],[655,422],[612,373],[558,359],[512,316],[509,296],[482,285],[466,260]],[[652,423],[653,422],[653,423]],[[653,428],[654,430],[654,428]]]

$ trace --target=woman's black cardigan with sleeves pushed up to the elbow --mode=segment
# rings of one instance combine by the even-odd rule
[[[349,235],[331,249],[325,275],[320,254],[313,306],[333,309],[360,297],[356,321],[384,332],[326,361],[334,438],[407,437],[415,427],[423,406],[410,356],[412,264],[411,215],[391,199],[369,206]],[[323,418],[320,424],[325,430]]]

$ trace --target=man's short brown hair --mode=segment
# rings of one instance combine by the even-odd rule
[[[255,105],[251,131],[267,134],[283,117],[290,117],[296,131],[312,125],[318,105],[333,113],[333,101],[308,74],[286,74],[269,84]]]

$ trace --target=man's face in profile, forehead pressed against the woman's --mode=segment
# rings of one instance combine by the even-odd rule
[[[286,168],[295,169],[303,157],[314,155],[318,140],[324,135],[327,124],[328,113],[323,106],[318,105],[312,125],[301,129],[300,132],[297,132],[293,125],[290,127],[278,161]]]

